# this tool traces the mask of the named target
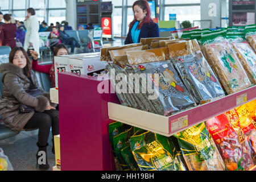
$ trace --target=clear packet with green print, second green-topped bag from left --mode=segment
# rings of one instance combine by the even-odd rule
[[[256,84],[256,53],[242,38],[232,39],[232,46],[252,84]]]

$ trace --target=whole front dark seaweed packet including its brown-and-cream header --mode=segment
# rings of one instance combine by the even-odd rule
[[[158,97],[151,100],[158,114],[168,116],[195,106],[193,98],[177,75],[170,61],[165,61],[167,47],[147,51],[127,51],[135,72],[152,80],[150,85]],[[154,74],[158,78],[154,78]],[[145,84],[144,84],[145,85]],[[148,84],[147,84],[148,85]]]

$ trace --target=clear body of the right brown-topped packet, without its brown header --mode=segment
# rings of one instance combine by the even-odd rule
[[[177,57],[174,63],[186,88],[197,104],[200,104],[201,101],[225,96],[218,78],[214,75],[201,51]]]

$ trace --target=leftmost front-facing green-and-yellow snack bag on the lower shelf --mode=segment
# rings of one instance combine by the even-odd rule
[[[131,151],[141,171],[181,171],[171,140],[150,131],[130,138]]]

